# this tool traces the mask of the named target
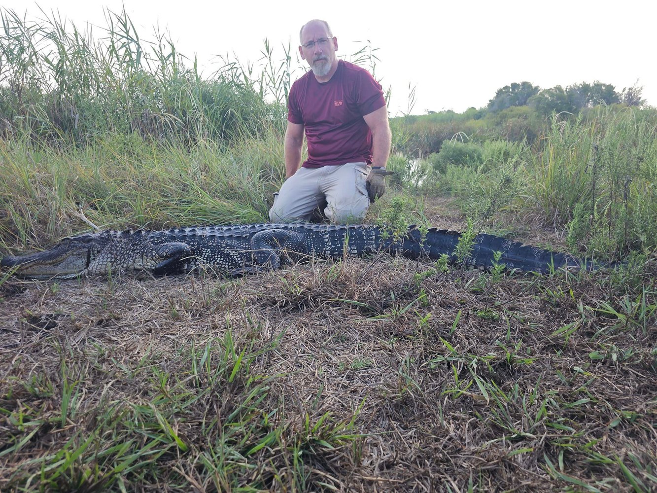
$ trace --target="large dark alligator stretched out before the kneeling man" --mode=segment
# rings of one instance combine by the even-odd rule
[[[64,238],[43,252],[5,256],[0,266],[32,279],[70,279],[81,275],[110,275],[150,271],[171,275],[214,270],[222,275],[279,268],[313,258],[367,256],[377,252],[406,258],[438,260],[443,254],[455,262],[461,233],[411,226],[392,235],[375,225],[263,223],[181,227],[163,231],[114,231]],[[558,268],[595,268],[591,260],[523,245],[481,233],[466,263],[491,267],[493,254],[507,269],[547,273]]]

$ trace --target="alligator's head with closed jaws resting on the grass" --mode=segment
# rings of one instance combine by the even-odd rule
[[[70,279],[85,273],[106,246],[104,233],[65,238],[55,247],[16,257],[7,256],[0,266],[15,268],[14,275],[32,279]]]

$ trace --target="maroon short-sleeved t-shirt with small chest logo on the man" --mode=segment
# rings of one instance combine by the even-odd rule
[[[372,132],[363,115],[385,104],[381,85],[364,68],[338,60],[328,82],[317,82],[309,70],[292,84],[288,96],[288,120],[306,131],[304,168],[371,164]]]

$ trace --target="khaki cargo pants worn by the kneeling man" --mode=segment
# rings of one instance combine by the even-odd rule
[[[323,212],[332,223],[361,222],[370,204],[365,185],[370,169],[365,162],[300,168],[275,195],[269,220],[309,221],[313,210],[324,206]]]

